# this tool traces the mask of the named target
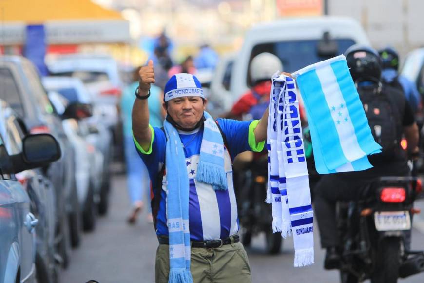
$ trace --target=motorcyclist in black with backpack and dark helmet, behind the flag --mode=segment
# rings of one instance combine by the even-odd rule
[[[415,123],[414,112],[400,91],[381,83],[382,62],[377,51],[369,47],[354,45],[347,49],[346,59],[365,111],[372,111],[374,115],[378,116],[384,109],[368,107],[366,101],[373,96],[387,98],[387,100],[393,101],[390,107],[391,115],[394,115],[395,118],[388,121],[389,123],[399,121],[399,127],[392,124],[388,125],[397,129],[395,132],[397,143],[392,142],[392,144],[395,144],[393,148],[385,149],[383,147],[382,153],[368,157],[369,162],[374,166],[373,168],[365,171],[324,175],[317,183],[314,203],[321,246],[327,249],[324,261],[325,269],[338,268],[340,263],[337,250],[341,243],[338,239],[336,225],[336,202],[358,200],[361,188],[375,178],[410,175],[407,157],[400,146],[402,135],[408,142],[408,148],[412,149],[413,152],[418,150],[418,127]],[[368,123],[371,124],[370,119],[368,119]],[[373,130],[377,131],[376,129]]]

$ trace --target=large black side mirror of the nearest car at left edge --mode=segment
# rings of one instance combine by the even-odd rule
[[[37,167],[44,167],[61,157],[58,141],[50,134],[27,135],[22,140],[22,152],[10,156],[13,172],[19,173]]]

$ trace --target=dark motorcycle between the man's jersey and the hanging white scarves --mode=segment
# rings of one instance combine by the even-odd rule
[[[241,242],[249,246],[253,236],[264,232],[267,252],[279,253],[283,238],[281,233],[272,233],[272,206],[264,201],[268,183],[267,155],[258,154],[235,175]]]

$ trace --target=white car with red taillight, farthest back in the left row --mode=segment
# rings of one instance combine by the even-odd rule
[[[79,78],[93,96],[94,111],[111,131],[115,157],[123,156],[122,123],[118,105],[123,83],[116,60],[108,55],[68,54],[46,61],[52,76]],[[107,162],[107,161],[106,161]]]

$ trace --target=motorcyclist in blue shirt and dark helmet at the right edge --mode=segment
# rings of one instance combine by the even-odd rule
[[[417,86],[412,81],[398,74],[399,54],[392,47],[383,48],[378,53],[383,61],[382,81],[390,86],[399,88],[405,94],[414,113],[416,113],[420,107],[421,96]]]

